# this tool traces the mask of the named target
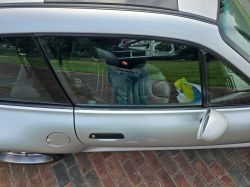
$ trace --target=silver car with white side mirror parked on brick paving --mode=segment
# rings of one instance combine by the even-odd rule
[[[0,160],[250,146],[248,0],[1,0]]]

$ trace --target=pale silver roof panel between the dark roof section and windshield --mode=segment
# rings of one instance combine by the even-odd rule
[[[217,20],[218,0],[178,0],[179,10]]]

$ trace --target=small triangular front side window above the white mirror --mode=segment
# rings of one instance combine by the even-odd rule
[[[208,101],[211,105],[250,103],[250,83],[211,54],[206,55]]]

